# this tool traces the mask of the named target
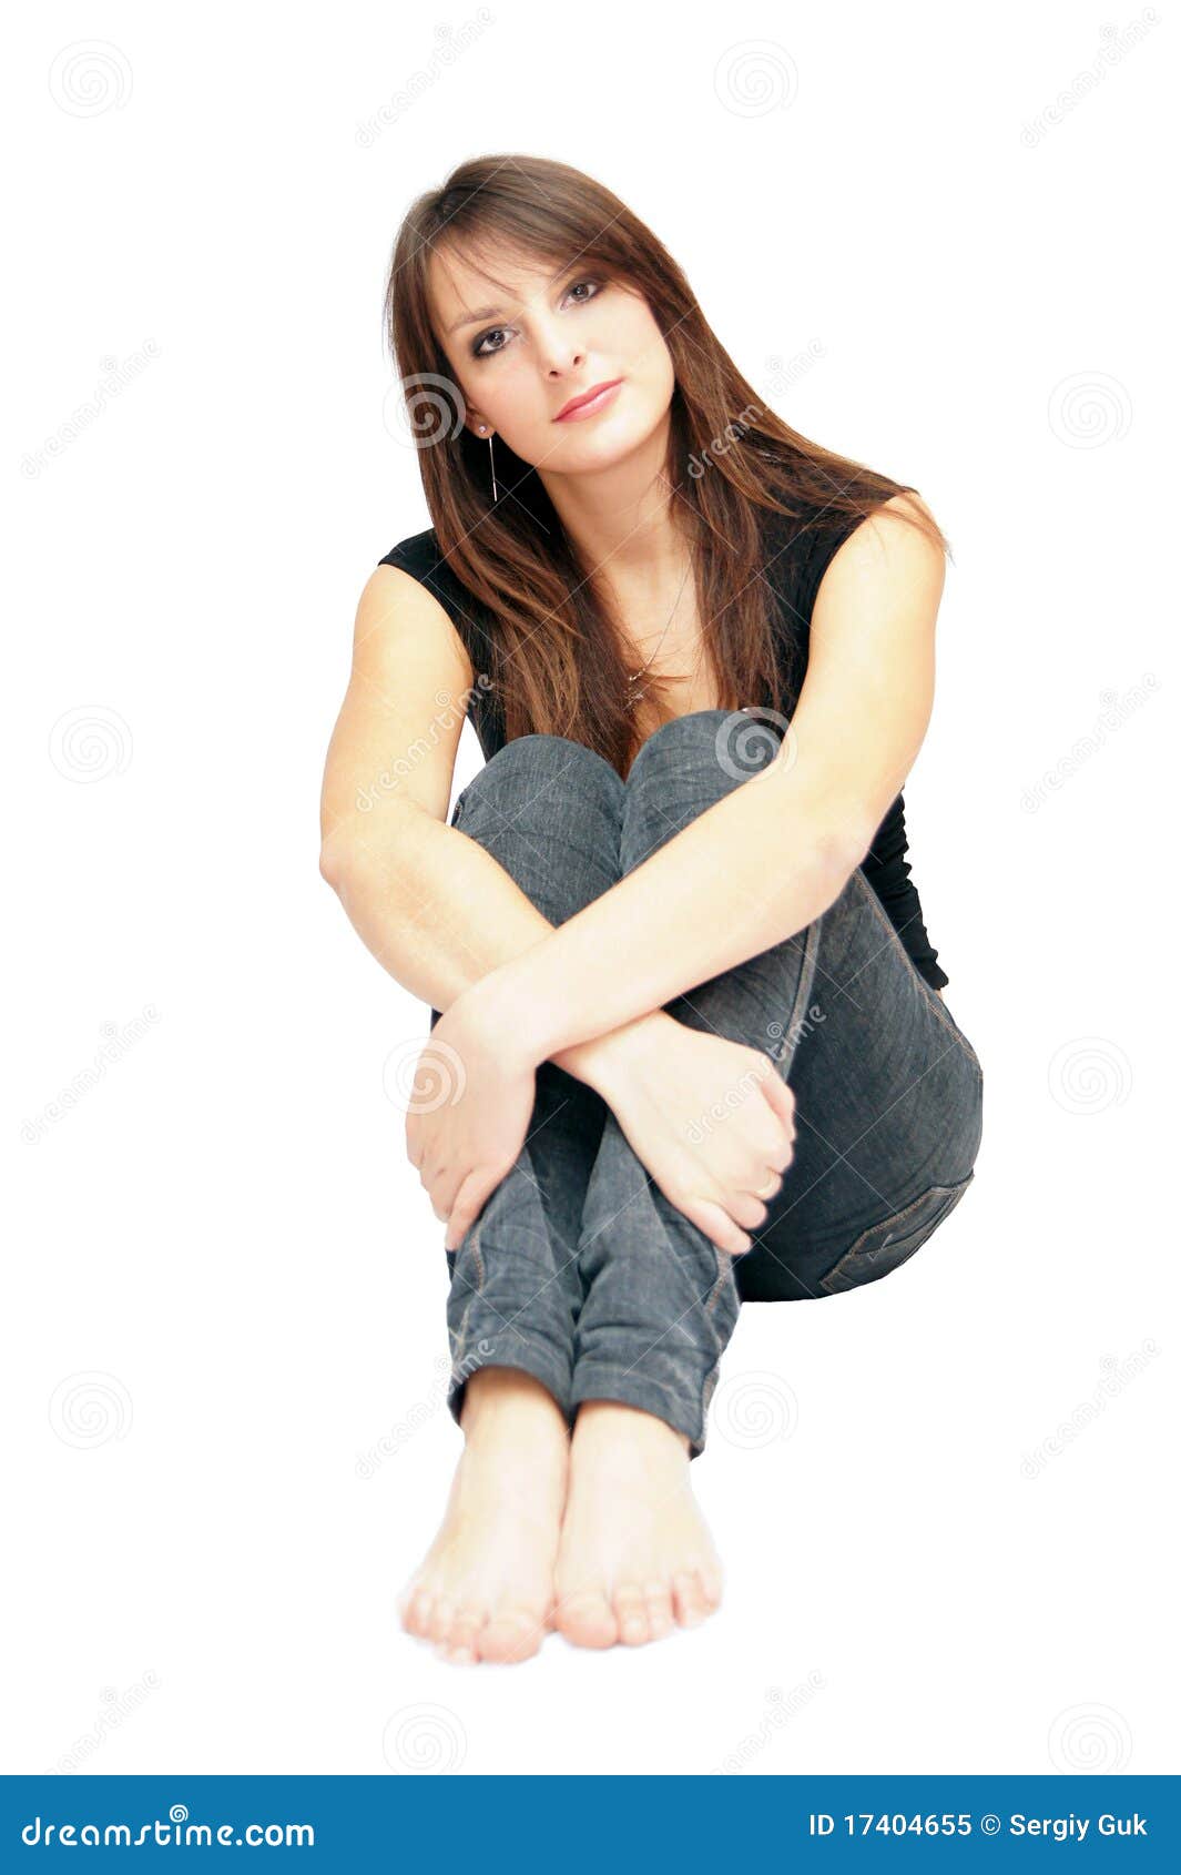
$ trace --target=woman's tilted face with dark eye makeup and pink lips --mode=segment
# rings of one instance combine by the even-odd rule
[[[435,332],[474,435],[501,435],[544,474],[587,474],[622,461],[667,424],[673,360],[647,300],[577,259],[499,266],[502,287],[461,253],[435,251]],[[478,315],[478,317],[472,317]],[[559,420],[596,384],[620,379],[602,405]]]

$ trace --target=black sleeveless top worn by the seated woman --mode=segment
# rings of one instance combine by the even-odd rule
[[[808,668],[812,608],[825,568],[842,542],[859,525],[860,516],[842,514],[827,519],[819,516],[806,529],[770,510],[765,512],[765,519],[769,523],[765,572],[780,604],[784,626],[780,654],[791,699],[799,696],[802,673]],[[495,626],[489,624],[480,600],[459,583],[448,562],[441,559],[433,527],[427,527],[422,534],[409,534],[407,540],[399,540],[396,548],[390,548],[382,555],[379,566],[399,566],[401,572],[411,574],[412,579],[427,587],[459,632],[476,677],[493,669],[489,634]],[[765,698],[763,701],[769,703],[770,699]],[[504,718],[493,688],[486,688],[480,682],[472,686],[471,718],[480,748],[484,750],[484,759],[491,761],[495,752],[504,746]],[[905,851],[905,801],[898,795],[874,834],[860,870],[902,938],[919,975],[935,990],[941,990],[950,979],[926,936],[922,906],[911,883]]]

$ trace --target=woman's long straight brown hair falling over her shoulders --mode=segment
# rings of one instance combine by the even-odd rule
[[[769,521],[778,514],[795,531],[827,529],[842,516],[872,514],[905,484],[810,442],[776,416],[710,330],[680,266],[611,189],[546,158],[484,156],[409,208],[384,315],[411,428],[420,431],[439,553],[493,619],[486,675],[506,737],[568,735],[626,772],[637,729],[624,709],[617,626],[540,476],[497,437],[493,504],[487,444],[461,422],[463,396],[433,330],[427,283],[431,251],[450,242],[489,279],[497,259],[557,268],[577,257],[645,296],[673,360],[665,476],[692,542],[705,656],[725,709],[765,696],[784,712],[802,669],[784,662]],[[922,512],[904,519],[949,549]],[[650,690],[667,701],[658,681]]]

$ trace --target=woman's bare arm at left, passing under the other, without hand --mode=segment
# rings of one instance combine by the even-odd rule
[[[555,930],[491,853],[446,825],[472,682],[439,602],[409,574],[379,566],[358,604],[324,767],[321,872],[377,962],[439,1011]],[[658,1009],[641,1012],[553,1059],[600,1086],[639,1035],[669,1022]]]

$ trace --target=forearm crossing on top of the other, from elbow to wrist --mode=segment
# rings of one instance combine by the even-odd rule
[[[489,1001],[538,1061],[660,1009],[834,904],[860,849],[823,825],[770,772],[737,788],[501,968]]]

